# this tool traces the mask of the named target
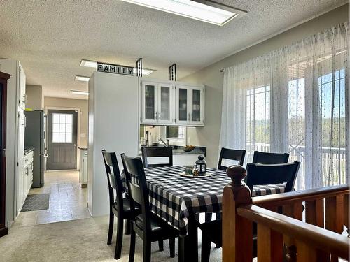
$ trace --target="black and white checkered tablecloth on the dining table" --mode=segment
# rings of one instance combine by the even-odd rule
[[[231,180],[225,171],[214,168],[207,168],[211,177],[183,177],[179,175],[183,171],[185,166],[145,168],[152,212],[186,235],[190,215],[221,212],[223,188]],[[125,175],[122,176],[125,183]],[[284,184],[256,186],[252,196],[283,193],[284,187]]]

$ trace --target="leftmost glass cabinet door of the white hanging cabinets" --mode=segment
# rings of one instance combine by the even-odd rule
[[[157,122],[158,112],[157,112],[157,85],[144,82],[143,83],[143,113],[142,122],[153,123]]]

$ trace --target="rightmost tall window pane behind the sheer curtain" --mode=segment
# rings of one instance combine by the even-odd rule
[[[344,68],[318,77],[318,99],[322,182],[327,186],[346,184]]]

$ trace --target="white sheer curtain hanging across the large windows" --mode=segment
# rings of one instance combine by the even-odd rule
[[[296,187],[349,183],[349,24],[225,68],[221,147],[289,152]]]

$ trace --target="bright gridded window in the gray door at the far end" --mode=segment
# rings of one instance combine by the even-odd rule
[[[71,143],[73,114],[52,114],[52,143]]]

